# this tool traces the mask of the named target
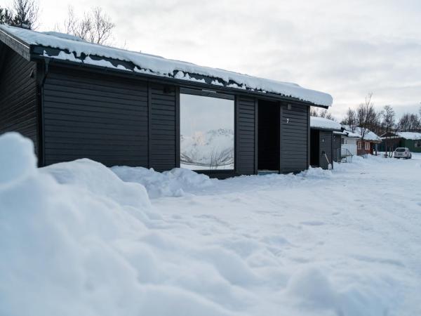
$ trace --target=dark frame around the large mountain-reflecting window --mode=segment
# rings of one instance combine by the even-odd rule
[[[192,171],[196,172],[196,173],[209,173],[209,174],[217,174],[217,173],[235,173],[236,172],[236,154],[237,154],[237,148],[236,148],[236,124],[237,124],[237,119],[236,119],[236,115],[237,115],[237,105],[236,105],[236,96],[232,95],[232,94],[227,94],[227,93],[220,93],[218,91],[212,91],[212,90],[206,90],[206,89],[194,89],[194,88],[183,88],[180,87],[179,91],[178,91],[178,143],[179,145],[179,150],[178,150],[178,167],[181,167],[181,116],[180,116],[180,112],[181,112],[181,95],[182,94],[186,94],[186,95],[192,95],[192,96],[203,96],[203,97],[208,97],[208,98],[216,98],[216,99],[224,99],[224,100],[232,100],[233,101],[233,116],[234,116],[234,121],[233,121],[233,129],[234,129],[234,166],[232,169],[192,169]]]

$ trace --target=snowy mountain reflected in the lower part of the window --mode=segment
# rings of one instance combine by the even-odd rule
[[[180,137],[180,163],[182,168],[233,169],[234,131],[213,129]]]

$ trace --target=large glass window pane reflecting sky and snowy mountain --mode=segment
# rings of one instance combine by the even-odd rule
[[[234,100],[180,93],[180,166],[234,169]]]

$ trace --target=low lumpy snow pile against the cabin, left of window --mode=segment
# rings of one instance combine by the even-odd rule
[[[187,169],[175,168],[162,173],[142,167],[114,166],[111,169],[121,180],[140,183],[149,197],[182,197],[192,190],[206,189],[213,185],[206,175]]]

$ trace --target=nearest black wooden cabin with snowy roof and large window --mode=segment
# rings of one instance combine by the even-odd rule
[[[331,103],[295,84],[0,26],[0,133],[31,138],[39,166],[298,172],[310,164],[309,107]]]

